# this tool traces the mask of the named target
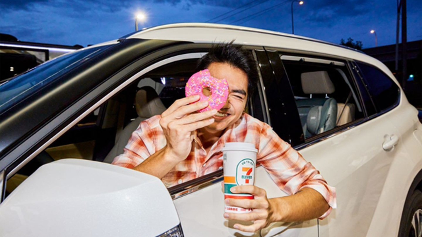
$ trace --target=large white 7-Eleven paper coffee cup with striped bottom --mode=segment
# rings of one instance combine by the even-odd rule
[[[254,199],[251,194],[234,194],[230,188],[238,185],[253,185],[257,152],[252,143],[225,143],[223,151],[224,199]],[[252,209],[225,205],[225,212],[249,213]]]

